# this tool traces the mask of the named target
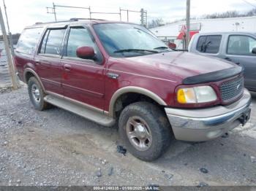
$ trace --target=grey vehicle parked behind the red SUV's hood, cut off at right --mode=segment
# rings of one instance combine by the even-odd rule
[[[244,68],[245,87],[256,91],[256,34],[196,34],[189,43],[189,52],[212,55]]]

